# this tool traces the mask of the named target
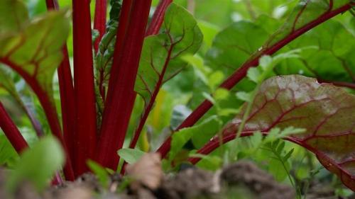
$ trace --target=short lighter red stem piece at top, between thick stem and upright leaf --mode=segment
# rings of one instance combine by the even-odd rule
[[[151,23],[148,26],[146,36],[156,35],[164,21],[166,8],[173,2],[173,0],[160,0],[155,9]]]

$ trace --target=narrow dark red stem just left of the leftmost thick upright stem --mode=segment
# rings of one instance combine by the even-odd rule
[[[58,10],[58,1],[46,0],[48,10]],[[74,86],[72,84],[72,72],[70,69],[67,45],[63,47],[63,60],[58,67],[58,81],[60,91],[60,106],[62,110],[62,126],[65,144],[74,162],[75,152],[75,104]]]

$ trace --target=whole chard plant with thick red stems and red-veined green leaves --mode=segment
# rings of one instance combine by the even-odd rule
[[[94,3],[93,17],[90,1],[77,0],[72,13],[46,0],[48,12],[33,16],[21,0],[0,1],[0,88],[26,113],[40,146],[60,151],[43,137],[51,132],[65,154],[53,154],[59,158],[44,176],[57,171],[55,183],[73,181],[90,171],[89,159],[123,174],[120,156],[131,163],[142,154],[138,144],[148,151],[146,124],[160,114],[163,86],[182,88],[197,76],[192,110],[174,110],[156,146],[168,165],[196,164],[236,138],[273,134],[314,153],[355,191],[355,32],[331,20],[354,13],[354,1],[293,2],[283,22],[251,11],[251,21],[221,31],[172,0],[160,0],[151,17],[151,0]],[[0,103],[1,130],[26,161],[35,138],[21,122]],[[197,152],[181,155],[190,142]]]

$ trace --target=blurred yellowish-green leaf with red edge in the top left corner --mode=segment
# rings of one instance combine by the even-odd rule
[[[69,33],[67,12],[50,12],[28,20],[22,1],[0,1],[0,62],[52,96],[55,69]]]

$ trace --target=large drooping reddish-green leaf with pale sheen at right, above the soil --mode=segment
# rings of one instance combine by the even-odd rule
[[[234,139],[241,113],[224,128],[224,142]],[[242,136],[267,133],[273,127],[304,128],[286,140],[317,155],[320,162],[355,190],[355,96],[332,84],[320,84],[305,76],[275,76],[266,80],[253,101]],[[216,137],[201,153],[218,144]]]

